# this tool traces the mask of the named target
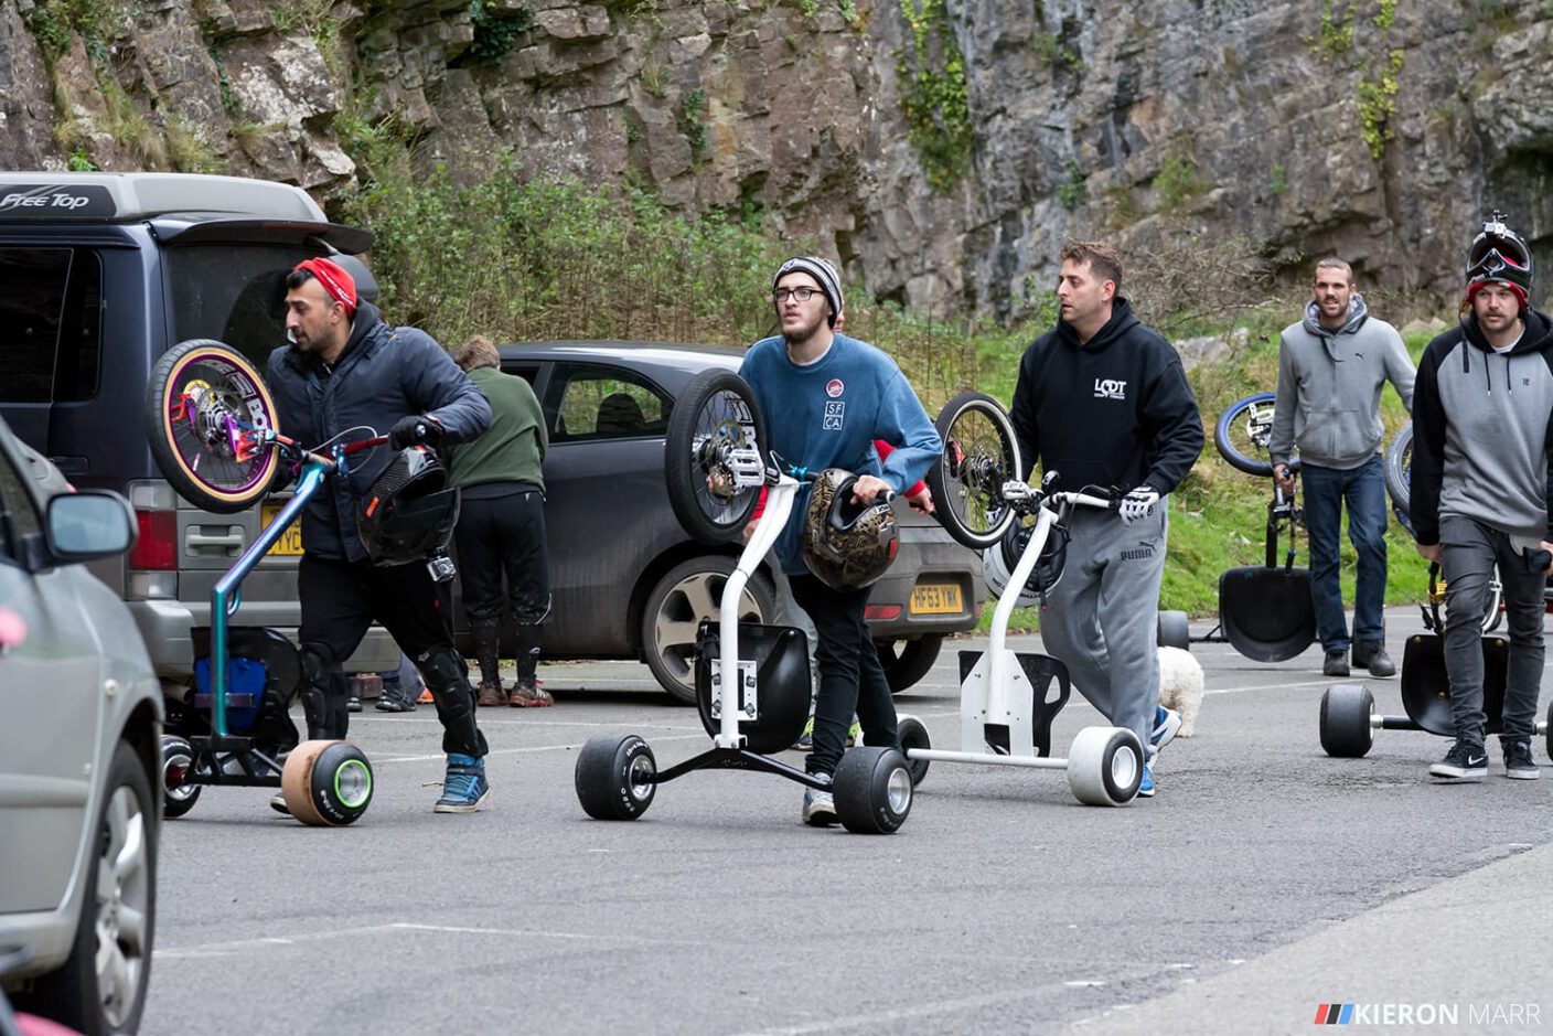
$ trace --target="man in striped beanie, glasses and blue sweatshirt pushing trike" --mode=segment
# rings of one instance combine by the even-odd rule
[[[856,472],[856,478],[837,478],[839,472],[826,471],[820,483],[806,483],[776,541],[778,564],[820,641],[814,752],[806,769],[829,777],[842,760],[853,713],[868,744],[899,747],[899,738],[890,683],[863,618],[870,586],[882,570],[865,558],[834,553],[820,525],[856,513],[848,520],[857,530],[884,531],[885,516],[870,505],[927,474],[943,443],[895,360],[836,331],[842,312],[836,267],[814,256],[787,259],[772,281],[772,304],[781,334],[750,346],[739,367],[766,415],[770,447],[812,471]],[[882,463],[874,440],[896,444]],[[811,506],[812,494],[828,506]],[[804,791],[803,822],[836,823],[831,792]]]

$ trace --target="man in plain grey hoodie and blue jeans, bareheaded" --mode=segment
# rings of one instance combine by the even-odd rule
[[[1300,452],[1305,475],[1305,527],[1311,534],[1311,598],[1326,659],[1322,673],[1348,676],[1353,665],[1370,676],[1396,676],[1385,652],[1385,475],[1381,468],[1381,388],[1396,387],[1413,407],[1413,362],[1402,335],[1370,315],[1354,290],[1353,267],[1342,259],[1315,264],[1305,320],[1283,329],[1278,345],[1278,399],[1273,404],[1273,477],[1294,491],[1289,457]],[[1354,629],[1348,637],[1339,578],[1342,511],[1359,555]]]

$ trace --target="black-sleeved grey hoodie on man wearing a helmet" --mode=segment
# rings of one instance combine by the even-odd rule
[[[1409,511],[1419,544],[1440,542],[1444,514],[1522,547],[1548,537],[1553,323],[1528,308],[1525,325],[1499,356],[1469,314],[1418,360]]]

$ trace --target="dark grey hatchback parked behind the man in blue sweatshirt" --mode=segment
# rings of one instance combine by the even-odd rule
[[[736,348],[646,342],[502,348],[502,370],[534,387],[550,432],[547,659],[640,659],[669,694],[694,701],[696,628],[717,612],[739,547],[699,544],[674,517],[663,436],[674,399],[696,374],[738,370],[742,359]],[[933,666],[944,637],[975,626],[981,567],[904,500],[896,517],[901,550],[874,584],[868,621],[890,685],[902,691]],[[776,620],[769,573],[749,582],[739,615]],[[461,609],[458,623],[467,652]]]

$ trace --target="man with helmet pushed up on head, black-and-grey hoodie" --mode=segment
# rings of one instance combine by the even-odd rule
[[[1500,747],[1505,777],[1534,780],[1542,685],[1542,592],[1553,550],[1548,440],[1553,323],[1531,308],[1531,252],[1500,213],[1468,250],[1460,326],[1424,349],[1413,391],[1410,514],[1418,553],[1446,579],[1444,660],[1455,742],[1430,777],[1488,775],[1483,643],[1499,565],[1510,660]]]

